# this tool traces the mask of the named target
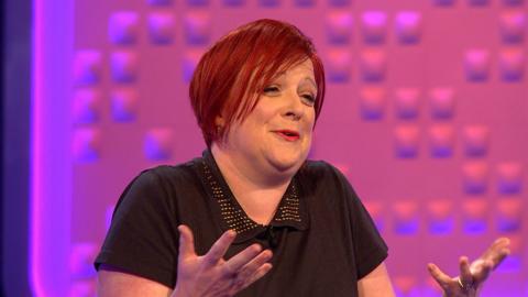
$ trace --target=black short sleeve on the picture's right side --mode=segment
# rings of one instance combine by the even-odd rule
[[[388,255],[388,248],[346,177],[334,170],[348,199],[356,273],[358,279],[361,279],[383,263]]]

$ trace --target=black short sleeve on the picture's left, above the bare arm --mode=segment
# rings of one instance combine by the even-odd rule
[[[116,206],[96,270],[108,265],[161,283],[176,284],[178,233],[174,201],[154,170],[143,172]]]

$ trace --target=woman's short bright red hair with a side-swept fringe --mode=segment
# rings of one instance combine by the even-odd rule
[[[324,98],[324,69],[312,42],[296,26],[257,20],[221,37],[198,63],[189,87],[190,103],[207,146],[221,141],[231,124],[253,111],[266,85],[309,58],[317,85],[316,120]],[[222,116],[223,125],[216,119]]]

